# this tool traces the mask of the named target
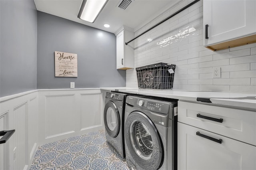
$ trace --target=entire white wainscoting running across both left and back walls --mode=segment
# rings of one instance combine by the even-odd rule
[[[45,89],[0,98],[0,170],[27,170],[39,145],[104,129],[100,89]]]

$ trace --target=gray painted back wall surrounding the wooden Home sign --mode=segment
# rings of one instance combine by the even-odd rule
[[[125,87],[126,71],[116,70],[116,36],[38,11],[37,88]],[[55,77],[54,51],[78,55],[78,77]]]

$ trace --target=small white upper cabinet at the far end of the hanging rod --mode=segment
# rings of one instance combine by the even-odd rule
[[[134,42],[125,43],[134,38],[134,33],[122,29],[116,34],[116,69],[134,68]]]

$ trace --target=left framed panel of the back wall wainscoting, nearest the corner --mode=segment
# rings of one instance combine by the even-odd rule
[[[46,138],[75,131],[76,115],[74,94],[45,97]]]

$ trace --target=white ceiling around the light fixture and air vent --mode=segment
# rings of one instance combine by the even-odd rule
[[[82,0],[34,0],[38,11],[112,33],[123,25],[137,31],[179,2],[179,0],[132,0],[123,10],[117,7],[119,1],[108,0],[96,21],[90,23],[77,18]],[[110,28],[105,28],[104,24],[110,24]]]

